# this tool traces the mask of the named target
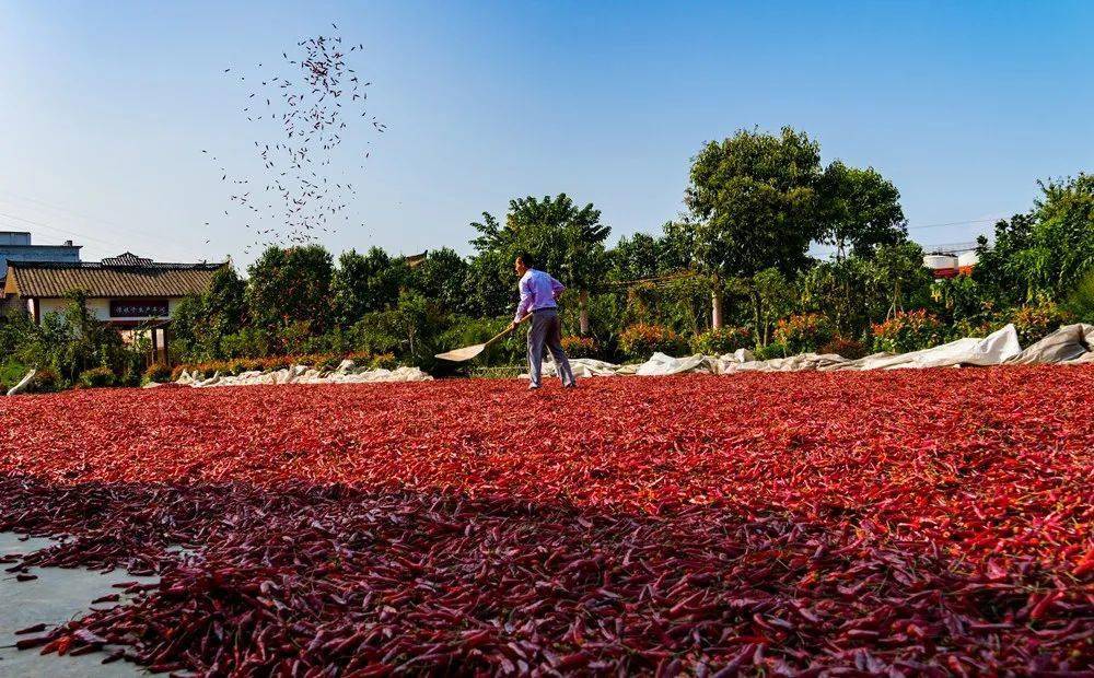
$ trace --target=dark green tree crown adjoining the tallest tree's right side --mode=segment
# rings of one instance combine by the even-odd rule
[[[824,232],[821,242],[836,247],[837,258],[848,250],[869,256],[877,245],[893,245],[908,235],[900,191],[873,167],[829,164],[822,177]]]

